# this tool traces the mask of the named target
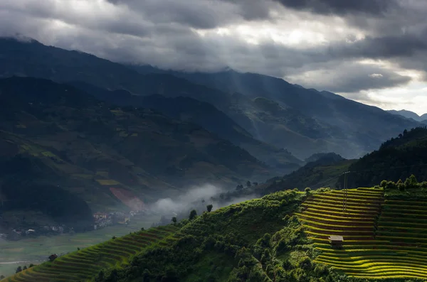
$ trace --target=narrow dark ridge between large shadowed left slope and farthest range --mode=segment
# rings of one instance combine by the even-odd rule
[[[278,173],[290,172],[303,163],[288,151],[253,139],[248,131],[207,102],[200,102],[190,97],[164,97],[159,94],[137,96],[125,90],[108,91],[84,82],[70,82],[70,84],[95,95],[102,101],[119,106],[132,105],[133,107],[155,109],[174,119],[199,124],[204,129],[218,134],[222,139],[246,149],[255,158],[272,166],[273,169],[275,168]]]

